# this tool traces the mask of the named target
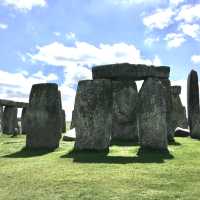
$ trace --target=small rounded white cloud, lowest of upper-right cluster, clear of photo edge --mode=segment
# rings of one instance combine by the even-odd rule
[[[164,40],[167,41],[167,46],[169,48],[180,47],[181,44],[186,41],[183,34],[180,33],[169,33],[166,35]]]

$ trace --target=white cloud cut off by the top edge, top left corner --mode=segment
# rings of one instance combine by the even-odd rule
[[[13,6],[20,11],[29,11],[33,7],[44,7],[47,4],[45,0],[0,0],[0,3],[7,6]]]

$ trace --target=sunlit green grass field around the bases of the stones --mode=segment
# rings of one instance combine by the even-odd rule
[[[200,199],[200,141],[176,138],[170,155],[138,146],[110,152],[73,152],[61,142],[54,152],[23,150],[25,137],[0,136],[0,200]]]

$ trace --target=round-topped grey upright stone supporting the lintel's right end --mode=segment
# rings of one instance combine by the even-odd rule
[[[144,81],[139,92],[138,119],[141,149],[167,150],[166,89],[154,78]]]

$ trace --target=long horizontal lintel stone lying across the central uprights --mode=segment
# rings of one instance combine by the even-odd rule
[[[170,68],[129,63],[101,65],[92,68],[93,79],[144,80],[148,77],[169,78]]]

